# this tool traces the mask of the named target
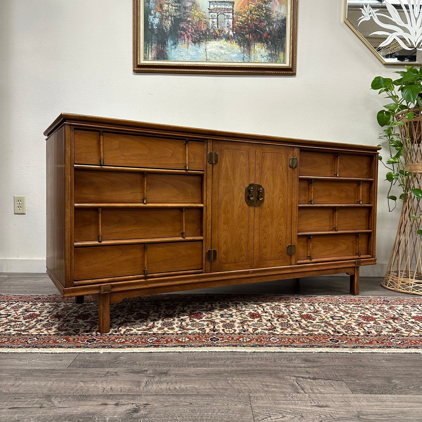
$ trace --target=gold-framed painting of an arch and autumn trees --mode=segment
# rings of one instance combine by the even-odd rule
[[[134,0],[133,70],[296,73],[298,0]]]

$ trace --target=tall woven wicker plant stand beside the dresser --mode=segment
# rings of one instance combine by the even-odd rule
[[[406,192],[409,192],[410,189],[422,189],[422,112],[414,110],[412,121],[404,117],[406,113],[403,111],[396,117],[406,123],[399,129],[405,148],[406,171],[411,173],[406,178]],[[387,289],[422,295],[422,236],[417,234],[421,220],[412,219],[422,213],[421,206],[421,200],[413,194],[405,195],[390,262],[381,283]]]

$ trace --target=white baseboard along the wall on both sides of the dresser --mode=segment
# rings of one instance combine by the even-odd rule
[[[387,264],[363,265],[361,277],[384,277]],[[0,260],[0,273],[45,273],[46,260]],[[332,274],[338,276],[339,274]],[[293,277],[293,275],[292,275]]]

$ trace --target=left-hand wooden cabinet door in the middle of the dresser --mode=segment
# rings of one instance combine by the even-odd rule
[[[214,141],[218,163],[212,170],[211,271],[244,270],[254,265],[254,207],[245,188],[254,182],[255,145]]]

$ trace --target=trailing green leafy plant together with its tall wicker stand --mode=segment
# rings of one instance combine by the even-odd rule
[[[388,209],[396,206],[397,197],[391,194],[398,184],[403,192],[400,222],[387,273],[381,285],[399,292],[422,295],[422,67],[406,66],[395,72],[400,78],[377,76],[371,88],[385,93],[392,102],[377,114],[384,130],[380,139],[387,141],[390,156],[379,160],[387,168],[390,183]],[[394,202],[394,207],[390,206]]]

